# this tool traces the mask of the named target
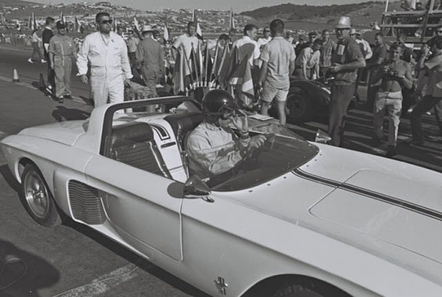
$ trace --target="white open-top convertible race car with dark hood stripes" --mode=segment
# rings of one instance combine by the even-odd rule
[[[212,296],[442,296],[440,173],[251,116],[266,143],[201,180],[183,142],[202,119],[188,97],[108,104],[1,149],[36,222],[70,217]]]

